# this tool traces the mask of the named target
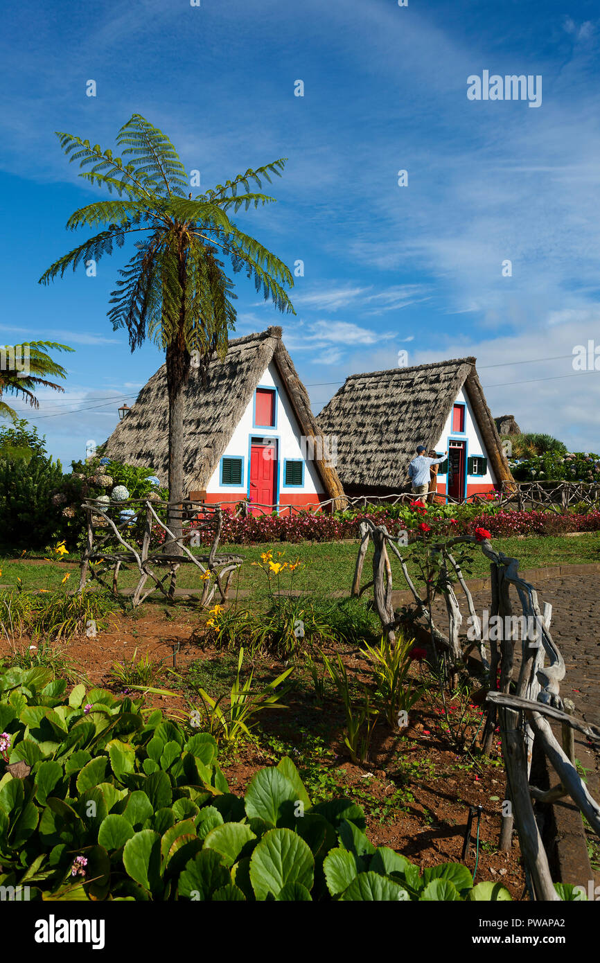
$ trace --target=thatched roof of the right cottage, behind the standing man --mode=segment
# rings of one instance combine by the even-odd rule
[[[498,480],[510,480],[509,463],[485,402],[475,358],[436,361],[412,368],[352,375],[317,422],[337,435],[337,472],[347,491],[402,490],[417,445],[436,445],[463,389],[483,434]]]

